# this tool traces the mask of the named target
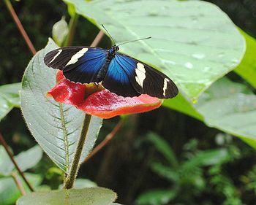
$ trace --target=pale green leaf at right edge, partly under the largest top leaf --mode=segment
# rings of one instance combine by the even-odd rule
[[[181,98],[186,101],[185,98]],[[167,100],[165,106],[176,109],[178,101]],[[185,113],[197,113],[206,125],[238,136],[256,149],[256,96],[240,83],[222,78],[214,83],[197,104],[187,102]]]

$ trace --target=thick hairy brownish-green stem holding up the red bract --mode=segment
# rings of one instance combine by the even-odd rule
[[[86,136],[89,130],[90,122],[91,122],[91,115],[86,114],[85,119],[83,121],[83,128],[80,134],[80,138],[78,140],[78,147],[75,150],[75,156],[72,162],[72,167],[64,185],[65,189],[71,189],[74,185],[75,177],[78,174],[80,156],[83,151],[84,142],[86,141]]]

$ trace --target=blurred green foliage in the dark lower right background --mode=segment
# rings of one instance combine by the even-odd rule
[[[217,198],[215,202],[204,199],[200,204],[221,204],[221,201],[222,204],[243,204],[241,190],[223,171],[234,160],[241,160],[243,153],[232,144],[230,136],[218,134],[215,139],[219,144],[211,150],[199,150],[198,140],[192,139],[184,144],[183,155],[177,158],[164,139],[153,133],[148,134],[144,143],[151,142],[154,152],[160,154],[148,165],[159,177],[167,179],[170,187],[143,193],[138,197],[137,204],[197,204],[197,198],[212,193]],[[227,139],[230,142],[225,142]]]

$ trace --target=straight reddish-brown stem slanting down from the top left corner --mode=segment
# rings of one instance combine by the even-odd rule
[[[10,0],[4,0],[5,5],[7,6],[7,9],[9,9],[10,14],[12,15],[13,20],[15,21],[16,25],[18,26],[18,29],[20,30],[20,33],[23,36],[23,39],[25,40],[26,44],[29,47],[29,50],[33,55],[37,53],[36,49],[34,48],[34,45],[32,44],[31,40],[29,39],[28,34],[26,34],[25,29],[23,28],[22,24],[20,23],[20,20],[18,18],[18,15],[16,14],[15,10],[12,7],[12,4]]]

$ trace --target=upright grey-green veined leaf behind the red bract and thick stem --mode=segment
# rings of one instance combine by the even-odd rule
[[[21,110],[31,134],[42,149],[63,171],[69,172],[83,125],[84,113],[67,104],[59,104],[46,96],[56,85],[56,71],[45,66],[46,53],[56,48],[50,39],[29,63],[20,93]],[[102,119],[91,117],[88,136],[80,160],[94,146]]]

